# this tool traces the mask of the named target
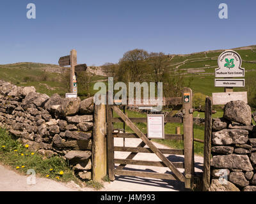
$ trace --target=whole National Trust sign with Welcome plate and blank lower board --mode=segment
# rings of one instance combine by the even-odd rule
[[[244,87],[244,68],[242,59],[233,50],[226,50],[218,57],[219,68],[215,69],[215,87],[224,87],[224,93],[212,93],[213,105],[225,105],[229,101],[242,100],[247,103],[247,92],[234,92],[233,87]],[[222,78],[220,78],[222,77]]]

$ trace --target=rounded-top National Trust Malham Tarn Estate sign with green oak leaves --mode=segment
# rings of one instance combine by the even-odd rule
[[[244,68],[241,65],[240,55],[233,50],[227,50],[218,58],[219,68],[215,69],[215,77],[244,77]]]

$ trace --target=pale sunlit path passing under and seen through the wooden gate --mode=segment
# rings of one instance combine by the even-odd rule
[[[136,138],[125,138],[126,147],[136,147],[141,142]],[[168,149],[168,147],[159,143],[154,143],[157,148]],[[123,146],[123,138],[115,138],[115,146]],[[147,146],[145,146],[147,147]],[[115,152],[116,159],[125,159],[129,155],[129,152]],[[179,162],[184,161],[184,156],[175,156],[165,154],[170,161]],[[145,161],[160,161],[156,154],[150,153],[138,153],[134,159]],[[202,172],[204,158],[195,156],[195,171]],[[170,172],[169,168],[157,167],[157,166],[138,166],[127,165],[124,170],[141,170],[149,172],[167,173]],[[180,172],[184,172],[184,169],[179,169]],[[104,184],[105,188],[102,191],[185,191],[184,183],[177,180],[163,180],[163,179],[150,179],[141,177],[127,177],[116,176],[114,182]]]

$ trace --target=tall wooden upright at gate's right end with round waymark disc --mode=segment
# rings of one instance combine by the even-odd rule
[[[193,96],[192,90],[184,87],[182,93],[185,187],[191,189],[191,180],[195,173],[193,138]]]

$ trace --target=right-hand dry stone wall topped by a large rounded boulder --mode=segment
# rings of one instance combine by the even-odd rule
[[[212,120],[211,154],[210,191],[256,191],[256,126],[243,101],[227,103],[223,118]]]

